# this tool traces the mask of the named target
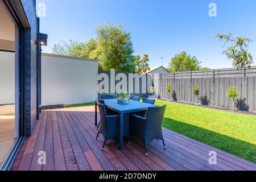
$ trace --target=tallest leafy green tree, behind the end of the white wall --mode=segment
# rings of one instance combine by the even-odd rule
[[[130,32],[123,30],[122,24],[100,24],[96,27],[97,49],[94,50],[94,59],[100,62],[100,69],[117,72],[134,72],[133,43]]]

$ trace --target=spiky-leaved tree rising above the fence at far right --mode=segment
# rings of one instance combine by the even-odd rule
[[[221,42],[225,41],[222,46],[223,53],[228,59],[233,60],[233,67],[244,68],[250,67],[253,64],[253,56],[248,51],[248,44],[252,42],[251,39],[246,37],[232,37],[232,34],[217,34],[217,39]],[[229,44],[226,47],[226,44]]]

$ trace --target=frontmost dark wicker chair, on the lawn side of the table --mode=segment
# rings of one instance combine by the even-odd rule
[[[162,140],[164,149],[166,149],[162,134],[162,121],[165,110],[166,105],[161,107],[148,107],[146,118],[131,114],[130,135],[141,140],[145,146],[146,156],[148,155],[147,146],[154,139]]]

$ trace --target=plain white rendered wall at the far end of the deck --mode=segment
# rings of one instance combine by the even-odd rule
[[[93,102],[98,61],[42,53],[42,106]]]

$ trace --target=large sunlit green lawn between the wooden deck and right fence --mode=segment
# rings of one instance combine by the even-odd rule
[[[163,127],[256,163],[256,117],[184,104],[167,105]]]

